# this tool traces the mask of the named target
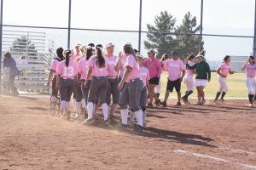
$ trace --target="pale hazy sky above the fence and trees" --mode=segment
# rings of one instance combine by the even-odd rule
[[[253,37],[254,4],[254,0],[204,0],[203,33]],[[143,0],[143,31],[147,31],[147,24],[154,24],[155,15],[164,10],[177,19],[177,26],[188,11],[200,24],[201,0]],[[67,16],[68,0],[3,0],[4,25],[67,27]],[[72,0],[74,28],[137,31],[138,16],[139,0]],[[67,45],[67,31],[40,31],[45,31],[57,46]],[[146,34],[142,40],[147,40]],[[249,55],[253,48],[253,38],[205,36],[203,40],[208,60],[220,60],[226,54]],[[78,42],[113,42],[118,53],[124,42],[137,47],[137,33],[72,31],[71,46]]]

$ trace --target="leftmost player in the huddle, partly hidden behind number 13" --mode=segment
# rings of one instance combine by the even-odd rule
[[[57,98],[58,91],[56,90],[55,85],[56,85],[56,77],[57,77],[57,66],[64,59],[63,48],[57,48],[56,54],[57,54],[57,57],[52,61],[50,66],[50,72],[49,72],[49,77],[47,82],[47,87],[49,87],[50,81],[52,82],[52,92],[50,97],[50,114],[55,114],[55,104],[58,99]],[[53,75],[55,76],[52,79]]]

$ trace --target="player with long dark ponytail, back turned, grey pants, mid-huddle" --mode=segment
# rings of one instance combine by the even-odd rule
[[[103,48],[101,44],[96,45],[96,55],[90,57],[87,77],[84,82],[85,88],[89,86],[90,76],[92,75],[92,81],[90,83],[90,90],[88,94],[87,113],[88,118],[83,124],[91,123],[93,121],[93,108],[96,104],[97,94],[100,104],[102,104],[102,112],[104,116],[104,122],[108,125],[108,105],[106,101],[108,93],[108,58],[102,54]]]

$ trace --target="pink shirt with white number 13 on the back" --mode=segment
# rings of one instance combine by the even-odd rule
[[[69,60],[68,67],[65,64],[65,60],[61,61],[57,66],[57,72],[64,79],[74,79],[77,76],[78,64],[73,60]]]

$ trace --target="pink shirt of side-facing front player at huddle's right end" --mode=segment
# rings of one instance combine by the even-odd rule
[[[138,65],[137,60],[132,54],[129,54],[125,60],[125,71],[127,69],[127,66],[130,66],[132,70],[125,82],[130,82],[131,80],[140,78],[140,66]]]

